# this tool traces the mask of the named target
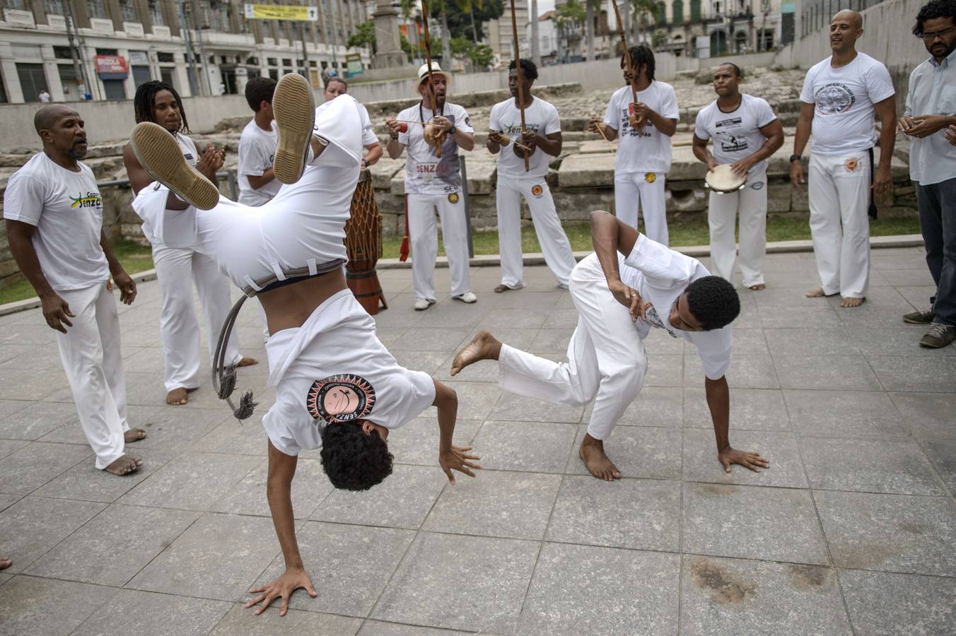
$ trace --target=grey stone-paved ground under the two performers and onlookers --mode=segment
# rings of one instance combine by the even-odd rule
[[[37,309],[0,317],[0,634],[374,636],[952,632],[956,598],[956,348],[923,350],[902,313],[931,288],[921,250],[874,255],[859,309],[803,297],[812,254],[771,254],[743,290],[728,371],[730,439],[771,460],[724,472],[693,347],[652,333],[639,399],[606,441],[624,478],[590,477],[576,445],[591,405],[503,392],[496,363],[451,378],[478,329],[563,360],[576,326],[546,267],[528,287],[412,309],[411,272],[383,270],[380,339],[459,394],[455,442],[484,471],[450,486],[434,408],[394,432],[394,474],[335,491],[316,451],[293,484],[317,598],[252,616],[248,590],[282,556],[266,499],[272,404],[265,364],[240,371],[256,416],[237,423],[206,379],[163,404],[159,287],[122,307],[129,417],[148,437],[139,475],[93,467]],[[255,312],[241,346],[265,363]],[[205,336],[204,336],[205,337]],[[29,603],[25,600],[29,599]]]

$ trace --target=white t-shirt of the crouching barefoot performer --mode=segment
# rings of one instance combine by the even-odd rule
[[[597,258],[597,257],[595,257]],[[646,320],[638,319],[635,326],[641,338],[651,327],[665,329],[675,338],[684,338],[697,347],[704,363],[704,372],[711,380],[719,380],[730,366],[732,337],[730,325],[709,331],[684,331],[670,324],[670,309],[692,281],[709,276],[704,265],[680,252],[638,236],[634,249],[625,259],[618,255],[620,280],[641,292],[644,302],[650,302]]]

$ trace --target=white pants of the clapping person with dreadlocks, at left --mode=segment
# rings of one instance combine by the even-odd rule
[[[192,284],[199,291],[203,306],[211,359],[231,305],[228,279],[215,261],[191,249],[155,245],[153,262],[163,295],[160,333],[166,391],[196,389],[200,385],[200,339],[199,323],[192,307]],[[233,331],[227,343],[226,364],[234,365],[241,359]]]

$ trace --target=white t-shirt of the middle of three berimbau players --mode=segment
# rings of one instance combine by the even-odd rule
[[[561,119],[554,105],[535,97],[532,105],[525,109],[525,127],[532,133],[547,137],[561,132]],[[491,107],[489,128],[504,133],[511,141],[521,140],[521,109],[514,104],[514,99],[506,99]],[[526,172],[524,156],[515,155],[511,143],[502,147],[497,158],[499,175],[510,179],[535,180],[548,174],[548,164],[552,159],[538,148],[529,158],[529,170]]]

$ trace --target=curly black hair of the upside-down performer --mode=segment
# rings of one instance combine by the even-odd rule
[[[368,490],[392,474],[388,445],[377,431],[365,433],[365,420],[337,422],[322,429],[322,468],[336,488]]]

